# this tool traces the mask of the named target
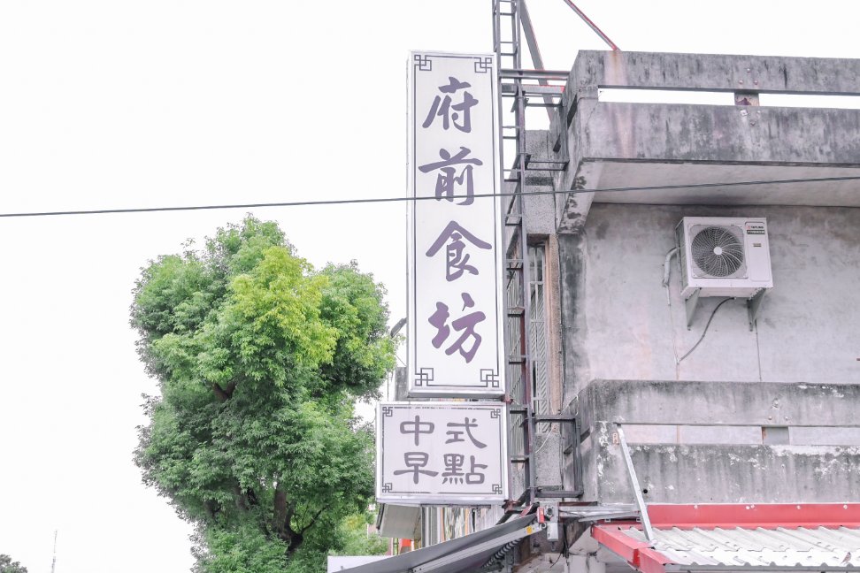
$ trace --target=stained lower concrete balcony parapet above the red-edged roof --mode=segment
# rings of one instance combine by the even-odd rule
[[[633,501],[617,423],[626,428],[647,501],[860,500],[860,447],[841,446],[838,441],[831,446],[761,443],[763,427],[781,424],[792,430],[813,426],[828,426],[825,429],[831,432],[839,432],[839,427],[856,430],[860,385],[595,380],[578,401],[586,436],[581,448],[585,500]],[[674,443],[672,438],[666,443],[637,443],[637,432],[630,432],[633,424],[686,424],[700,430],[700,438],[710,433],[712,441]],[[760,442],[730,443],[726,432],[733,425],[758,432]]]

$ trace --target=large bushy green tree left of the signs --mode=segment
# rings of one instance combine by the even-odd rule
[[[318,571],[365,511],[373,439],[353,404],[394,366],[383,296],[251,217],[143,269],[131,322],[161,396],[135,461],[196,523],[197,569]]]

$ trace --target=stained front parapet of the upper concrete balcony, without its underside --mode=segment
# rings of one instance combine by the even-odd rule
[[[551,138],[569,130],[573,171],[595,158],[860,163],[857,110],[598,102],[613,87],[858,94],[858,59],[581,51]]]

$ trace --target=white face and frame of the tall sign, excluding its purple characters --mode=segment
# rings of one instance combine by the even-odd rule
[[[498,71],[496,69],[495,54],[474,53],[455,54],[443,51],[412,51],[409,59],[409,121],[408,124],[408,161],[409,161],[409,196],[418,201],[409,202],[408,212],[408,269],[409,269],[409,301],[407,306],[407,317],[409,320],[408,344],[407,344],[407,375],[409,379],[409,393],[414,397],[462,397],[462,398],[499,398],[506,393],[505,380],[505,349],[504,349],[504,300],[503,300],[503,269],[504,269],[504,244],[502,229],[502,202],[498,196],[502,190],[501,181],[501,154],[500,154],[500,128],[498,114]],[[435,70],[435,72],[433,72]],[[469,71],[472,71],[470,74]],[[433,75],[430,75],[433,73]],[[469,90],[476,95],[480,104],[485,106],[480,113],[477,112],[472,126],[475,133],[469,133],[468,138],[458,134],[457,129],[448,129],[440,133],[436,126],[427,130],[422,125],[434,121],[433,113],[427,114],[427,109],[436,110],[434,96],[439,95],[442,77],[468,82]],[[453,85],[452,81],[452,85]],[[428,104],[429,102],[433,102]],[[477,108],[477,106],[476,106]],[[468,110],[461,111],[461,114]],[[448,118],[445,118],[446,120]],[[463,121],[463,118],[460,118]],[[456,123],[456,122],[453,122]],[[456,126],[456,125],[455,125]],[[449,126],[454,127],[454,126]],[[458,137],[461,136],[461,137]],[[457,202],[438,201],[439,190],[436,188],[437,201],[427,200],[426,197],[433,195],[433,174],[420,172],[421,164],[426,163],[431,154],[442,150],[456,151],[465,149],[468,143],[470,148],[480,149],[480,174],[479,167],[475,166],[475,179],[477,185],[473,189],[477,195],[468,209],[472,210],[469,217],[472,220],[480,220],[481,240],[492,244],[492,254],[472,249],[470,256],[472,264],[477,266],[476,261],[484,265],[480,268],[480,277],[461,276],[461,283],[466,283],[470,288],[456,284],[446,290],[439,284],[430,284],[435,279],[433,271],[438,272],[437,261],[427,261],[425,251],[427,245],[433,241],[434,233],[439,233],[443,228],[444,221],[454,221],[465,213],[463,207],[463,196],[457,192]],[[442,148],[442,149],[440,149]],[[470,151],[472,149],[469,149]],[[442,156],[444,157],[444,156]],[[436,160],[439,156],[435,157]],[[424,165],[426,166],[426,165]],[[468,173],[472,178],[472,172]],[[465,177],[464,172],[459,172],[459,177]],[[462,181],[459,181],[462,187]],[[438,183],[437,183],[438,185]],[[484,196],[481,196],[484,195]],[[492,195],[492,196],[487,196]],[[421,197],[424,197],[422,200]],[[440,222],[442,221],[442,223]],[[428,227],[431,229],[428,231]],[[490,231],[491,229],[491,231]],[[489,236],[489,235],[492,236]],[[441,256],[450,256],[444,250]],[[490,264],[489,261],[492,261]],[[489,268],[492,266],[492,268]],[[433,271],[431,271],[431,269]],[[478,274],[475,272],[474,274]],[[462,294],[460,291],[463,291]],[[478,292],[476,295],[480,310],[486,319],[480,323],[481,343],[484,349],[479,349],[480,354],[474,355],[474,363],[464,365],[454,361],[460,358],[457,353],[446,354],[452,347],[435,347],[431,344],[434,336],[428,334],[428,317],[433,314],[431,298],[442,298],[447,295],[445,301],[446,312],[449,310],[449,320],[468,312],[467,306],[472,298],[466,298],[466,291]],[[459,297],[463,296],[463,302]],[[492,297],[492,303],[489,299]],[[486,299],[486,300],[485,300]],[[440,301],[441,302],[441,301]],[[480,302],[483,302],[481,305]],[[438,307],[437,307],[438,308]],[[471,307],[470,307],[471,309]],[[447,315],[446,315],[447,316]],[[477,327],[476,327],[477,328]],[[457,332],[459,335],[459,332]],[[451,336],[450,339],[456,339]],[[446,346],[449,344],[446,341]],[[462,346],[461,346],[462,348]],[[492,348],[492,354],[489,348]],[[447,361],[447,362],[446,362]],[[469,361],[466,361],[469,362]]]

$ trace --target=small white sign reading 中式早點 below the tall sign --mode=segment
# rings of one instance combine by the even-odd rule
[[[506,415],[503,403],[380,403],[376,499],[412,505],[506,500]]]

